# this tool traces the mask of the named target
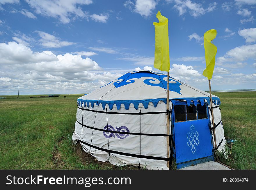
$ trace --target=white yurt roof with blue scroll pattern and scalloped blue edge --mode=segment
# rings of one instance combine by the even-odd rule
[[[95,106],[102,104],[105,109],[106,104],[111,110],[116,105],[119,110],[121,104],[124,104],[128,110],[130,104],[138,109],[140,103],[147,109],[148,104],[152,102],[156,107],[159,101],[167,103],[167,75],[156,73],[151,70],[138,70],[128,72],[118,79],[106,84],[93,92],[80,97],[77,103],[82,106]],[[210,94],[194,88],[184,82],[173,77],[169,77],[169,99],[173,104],[177,100],[185,100],[188,106],[191,101],[197,105],[200,101],[204,104],[210,103]],[[212,95],[213,103],[220,105],[220,99]]]

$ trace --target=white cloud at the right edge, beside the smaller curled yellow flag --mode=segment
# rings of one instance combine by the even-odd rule
[[[218,63],[223,63],[226,61],[246,61],[248,59],[256,59],[256,44],[252,45],[243,45],[240,47],[236,47],[234,49],[231,49],[227,51],[227,53],[219,57]]]

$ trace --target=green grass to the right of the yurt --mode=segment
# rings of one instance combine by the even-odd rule
[[[228,159],[221,161],[235,169],[256,169],[256,92],[214,95],[221,99],[225,138],[236,140]]]

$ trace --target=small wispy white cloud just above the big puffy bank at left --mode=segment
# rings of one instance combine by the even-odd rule
[[[39,34],[41,39],[39,40],[42,44],[42,46],[48,47],[48,48],[60,48],[64,46],[70,46],[74,45],[76,43],[70,42],[70,41],[60,41],[59,38],[55,37],[54,35],[48,34],[46,32],[42,31],[35,31]]]

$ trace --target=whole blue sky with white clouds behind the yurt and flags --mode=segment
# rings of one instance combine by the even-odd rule
[[[171,77],[209,90],[203,35],[216,29],[212,90],[256,88],[256,0],[0,0],[0,95],[89,93],[129,71],[159,72],[158,11]]]

